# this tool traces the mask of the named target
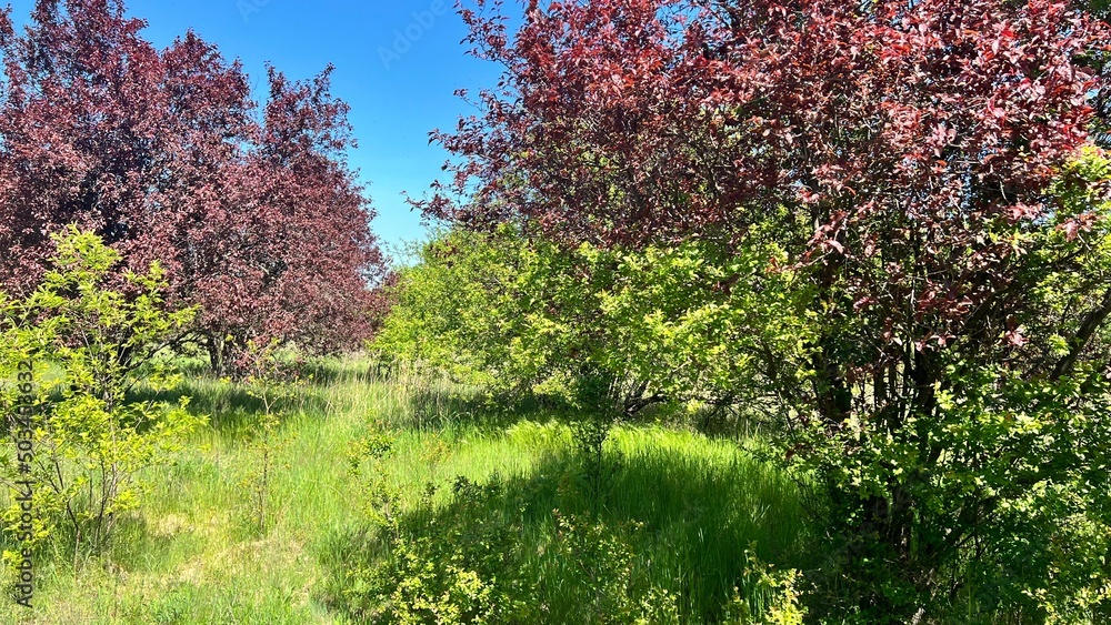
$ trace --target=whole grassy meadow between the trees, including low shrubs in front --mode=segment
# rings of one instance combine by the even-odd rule
[[[772,596],[761,572],[817,564],[754,437],[649,419],[592,462],[574,415],[366,359],[277,402],[187,371],[166,399],[208,424],[148,471],[104,553],[36,554],[33,609],[4,602],[0,622],[745,622]]]

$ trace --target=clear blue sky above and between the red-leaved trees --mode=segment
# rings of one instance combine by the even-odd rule
[[[26,22],[33,0],[8,1],[17,23]],[[266,93],[268,61],[293,79],[311,78],[334,64],[332,93],[351,105],[350,121],[359,141],[350,162],[360,170],[378,211],[374,231],[389,248],[423,235],[420,215],[403,202],[401,192],[420,196],[429,183],[442,178],[440,165],[448,154],[428,144],[428,132],[451,129],[460,115],[474,112],[453,95],[454,90],[493,87],[500,74],[497,64],[466,54],[460,42],[467,30],[453,4],[453,0],[126,1],[131,16],[148,21],[146,38],[159,48],[192,29],[224,57],[239,58],[254,83],[256,100]]]

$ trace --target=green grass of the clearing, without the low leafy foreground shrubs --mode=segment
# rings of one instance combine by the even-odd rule
[[[152,491],[108,553],[39,554],[36,607],[4,602],[0,623],[352,622],[348,573],[389,555],[364,512],[372,476],[349,470],[349,445],[368,432],[393,440],[380,478],[399,494],[401,527],[437,538],[497,513],[520,530],[521,565],[542,577],[537,597],[553,619],[581,613],[568,588],[583,583],[572,579],[582,566],[550,556],[563,515],[612,528],[638,578],[679,597],[691,622],[720,616],[750,545],[781,567],[807,564],[793,485],[733,443],[620,427],[590,496],[570,431],[543,409],[494,410],[412,375],[382,381],[358,360],[320,366],[314,380],[271,441],[264,528],[249,495],[262,462],[261,404],[194,372],[180,392],[211,415],[209,426],[150,472]],[[451,487],[459,476],[498,487],[462,510]]]

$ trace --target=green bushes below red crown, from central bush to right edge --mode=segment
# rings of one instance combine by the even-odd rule
[[[653,402],[760,415],[844,545],[808,575],[811,614],[1104,622],[1111,160],[1075,157],[1039,220],[981,215],[940,246],[892,213],[822,262],[801,262],[813,223],[788,208],[728,245],[452,231],[403,273],[379,346],[567,399],[588,461],[607,419]]]

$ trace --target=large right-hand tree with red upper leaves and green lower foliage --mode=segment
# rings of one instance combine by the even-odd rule
[[[1105,618],[1105,23],[1048,0],[612,0],[533,2],[510,37],[478,4],[463,17],[502,89],[436,134],[454,187],[418,204],[571,254],[754,256],[738,273],[760,322],[708,370],[753,372],[722,386],[774,395],[755,407],[785,426],[780,460],[824,490],[848,546],[822,611]],[[760,280],[784,282],[765,301]],[[604,321],[560,335],[621,354]]]

